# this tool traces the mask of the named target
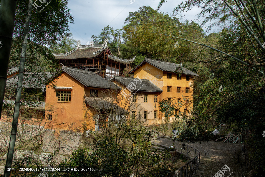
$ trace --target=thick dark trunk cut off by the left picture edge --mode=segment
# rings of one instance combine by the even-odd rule
[[[7,68],[12,44],[16,0],[2,0],[0,8],[0,120],[4,102]]]

